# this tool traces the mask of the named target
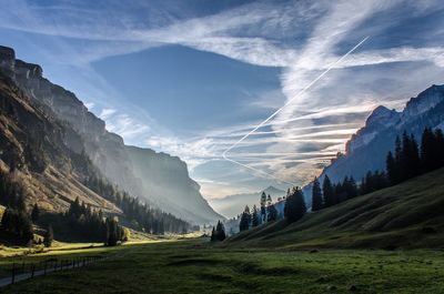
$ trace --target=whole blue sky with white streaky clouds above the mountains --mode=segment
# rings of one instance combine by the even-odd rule
[[[444,83],[441,0],[0,6],[0,44],[127,144],[180,156],[206,199],[305,184],[374,108]]]

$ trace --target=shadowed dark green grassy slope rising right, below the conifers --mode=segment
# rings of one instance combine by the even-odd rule
[[[433,232],[434,231],[434,232]],[[303,247],[444,246],[444,169],[396,186],[238,234],[225,244]]]

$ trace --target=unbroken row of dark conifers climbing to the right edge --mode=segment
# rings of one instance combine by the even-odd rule
[[[421,144],[413,134],[403,132],[396,136],[394,151],[389,151],[385,171],[369,171],[356,184],[353,176],[345,176],[342,182],[332,184],[329,175],[324,176],[322,189],[315,178],[312,184],[312,211],[319,211],[374,191],[405,182],[414,176],[444,166],[444,135],[442,130],[426,128],[421,136]]]

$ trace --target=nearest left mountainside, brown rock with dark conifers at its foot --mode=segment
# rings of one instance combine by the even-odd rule
[[[0,204],[7,207],[1,215],[1,242],[29,243],[32,223],[48,234],[53,229],[53,237],[67,241],[103,241],[108,232],[111,239],[105,243],[122,239],[118,219],[148,233],[190,229],[189,223],[110,184],[81,148],[82,136],[36,103],[4,68],[0,70]],[[70,140],[77,151],[68,146]]]

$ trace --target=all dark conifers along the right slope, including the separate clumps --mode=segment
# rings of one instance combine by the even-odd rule
[[[329,207],[349,199],[372,193],[374,191],[395,185],[414,176],[431,172],[444,166],[444,135],[442,130],[426,128],[421,136],[418,145],[413,134],[403,132],[396,136],[394,152],[386,155],[385,171],[369,171],[365,176],[356,183],[353,176],[345,176],[343,181],[332,183],[327,175],[322,183],[317,178],[312,183],[312,211]],[[240,220],[240,231],[249,230],[259,224],[271,221],[274,216],[274,205],[261,196],[261,209],[255,205],[250,211],[245,206]],[[266,203],[263,205],[263,203]],[[275,207],[274,207],[275,210]],[[271,219],[263,219],[263,215],[272,215]],[[285,196],[284,217],[289,223],[296,222],[306,213],[304,194],[300,187],[287,190]]]

